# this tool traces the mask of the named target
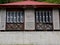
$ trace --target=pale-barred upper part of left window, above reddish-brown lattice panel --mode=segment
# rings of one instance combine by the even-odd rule
[[[23,12],[7,11],[7,23],[23,23]]]

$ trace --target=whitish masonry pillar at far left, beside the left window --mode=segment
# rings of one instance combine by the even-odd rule
[[[6,10],[0,10],[0,30],[5,30],[6,26]]]

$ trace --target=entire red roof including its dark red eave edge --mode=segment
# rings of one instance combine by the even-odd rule
[[[30,0],[0,4],[0,8],[60,8],[60,4]]]

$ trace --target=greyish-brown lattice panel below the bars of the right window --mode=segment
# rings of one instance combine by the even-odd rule
[[[36,30],[52,30],[52,24],[36,24]]]

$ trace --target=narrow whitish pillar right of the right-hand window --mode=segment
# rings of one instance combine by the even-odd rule
[[[59,10],[53,9],[53,28],[59,30]]]

